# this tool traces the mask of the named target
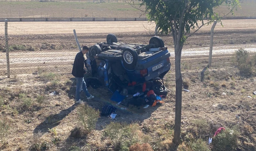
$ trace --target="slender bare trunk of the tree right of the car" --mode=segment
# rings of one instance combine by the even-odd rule
[[[180,144],[181,136],[181,106],[182,106],[182,75],[181,75],[181,51],[183,46],[177,42],[175,50],[175,81],[176,81],[176,95],[175,95],[175,125],[173,142],[176,145]]]

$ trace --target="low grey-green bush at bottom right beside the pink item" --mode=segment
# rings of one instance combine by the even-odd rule
[[[226,129],[213,138],[212,151],[236,150],[239,133],[236,130]]]

